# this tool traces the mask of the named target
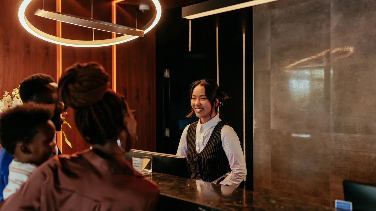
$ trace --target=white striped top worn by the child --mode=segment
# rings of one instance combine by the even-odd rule
[[[4,200],[20,189],[36,168],[37,166],[34,164],[12,160],[11,164],[9,164],[8,185],[3,190]]]

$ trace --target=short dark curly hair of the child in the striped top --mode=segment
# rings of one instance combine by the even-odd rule
[[[11,155],[17,143],[30,143],[38,133],[36,127],[53,115],[48,105],[25,103],[8,109],[0,117],[0,144]]]

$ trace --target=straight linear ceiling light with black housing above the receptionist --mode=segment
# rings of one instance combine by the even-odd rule
[[[191,20],[275,1],[278,0],[210,0],[183,7],[182,17]]]

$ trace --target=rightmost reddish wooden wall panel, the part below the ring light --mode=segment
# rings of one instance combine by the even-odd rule
[[[155,151],[155,31],[117,46],[117,92],[136,110],[136,149]]]

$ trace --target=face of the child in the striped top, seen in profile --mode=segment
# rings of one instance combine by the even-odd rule
[[[21,144],[20,153],[15,156],[20,156],[18,160],[41,165],[47,161],[55,150],[55,125],[51,120],[40,124],[36,127],[37,133],[29,144]]]

